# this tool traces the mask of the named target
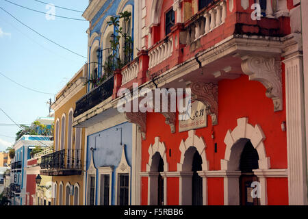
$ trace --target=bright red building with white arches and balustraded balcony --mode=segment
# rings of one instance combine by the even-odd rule
[[[142,205],[307,204],[297,3],[261,1],[259,19],[253,3],[142,1],[142,65],[121,87],[191,88],[207,112],[127,116],[144,136]]]

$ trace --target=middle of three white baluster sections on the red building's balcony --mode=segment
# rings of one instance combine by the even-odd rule
[[[167,42],[162,43],[155,49],[149,52],[149,68],[163,62],[166,58],[172,55],[173,40],[169,38]]]

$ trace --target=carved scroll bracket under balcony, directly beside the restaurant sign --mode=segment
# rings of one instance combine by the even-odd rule
[[[214,83],[193,82],[190,85],[196,101],[201,101],[207,107],[212,125],[218,124],[218,85]]]

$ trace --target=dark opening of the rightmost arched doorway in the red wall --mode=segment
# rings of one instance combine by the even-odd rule
[[[253,183],[257,182],[257,176],[253,170],[259,169],[259,155],[257,150],[248,140],[240,156],[240,205],[259,205],[260,201],[257,196],[253,196]]]

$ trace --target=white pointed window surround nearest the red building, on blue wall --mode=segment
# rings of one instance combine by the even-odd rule
[[[131,200],[131,167],[129,164],[127,164],[127,159],[125,156],[125,144],[122,146],[122,156],[120,160],[120,164],[118,164],[118,167],[116,168],[116,200],[115,204],[118,205],[118,196],[119,194],[119,186],[118,186],[118,177],[120,174],[128,174],[129,175],[129,198],[128,198],[128,205],[131,205],[130,200]]]

